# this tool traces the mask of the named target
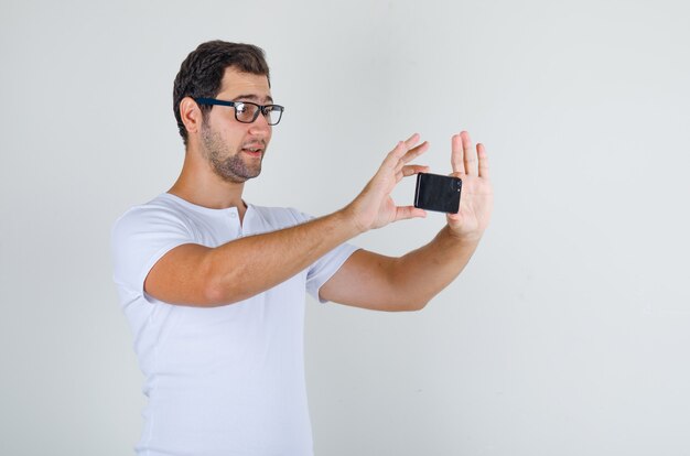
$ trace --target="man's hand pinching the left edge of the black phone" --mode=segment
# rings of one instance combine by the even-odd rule
[[[418,141],[417,133],[407,141],[400,141],[386,156],[371,181],[346,207],[360,232],[406,218],[425,217],[427,213],[423,209],[414,206],[396,206],[390,197],[390,193],[402,177],[428,171],[428,166],[408,164],[429,149],[427,141],[416,145]]]

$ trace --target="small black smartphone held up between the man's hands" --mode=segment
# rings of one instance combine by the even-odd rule
[[[419,173],[414,191],[414,207],[457,214],[462,186],[463,182],[460,177]]]

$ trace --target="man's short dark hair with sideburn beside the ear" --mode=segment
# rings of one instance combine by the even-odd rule
[[[173,86],[173,110],[180,135],[187,143],[187,130],[180,116],[180,101],[184,97],[215,98],[220,91],[223,76],[228,67],[252,75],[270,75],[261,47],[252,44],[228,43],[220,40],[202,43],[182,62]],[[213,106],[200,105],[204,120]]]

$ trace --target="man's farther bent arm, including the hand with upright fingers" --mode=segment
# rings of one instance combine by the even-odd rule
[[[436,237],[400,258],[358,250],[321,287],[322,298],[378,311],[416,311],[460,274],[488,225],[493,193],[484,146],[474,150],[466,132],[453,137],[451,162],[452,175],[463,180],[461,206]]]

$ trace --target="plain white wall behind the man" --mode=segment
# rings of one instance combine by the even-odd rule
[[[677,1],[0,3],[0,454],[132,454],[109,230],[168,189],[180,63],[267,51],[255,204],[323,215],[396,143],[486,144],[496,208],[420,313],[308,305],[319,455],[690,454],[690,28]],[[413,188],[397,189],[410,204]],[[355,242],[402,254],[443,217]]]

